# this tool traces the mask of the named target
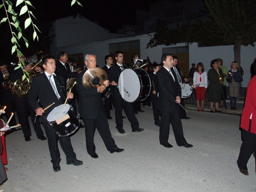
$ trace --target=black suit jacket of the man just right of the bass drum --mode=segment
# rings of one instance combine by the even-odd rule
[[[176,96],[181,96],[181,88],[177,76],[173,68],[170,70],[174,75],[175,81],[164,67],[156,73],[156,82],[159,89],[157,109],[159,111],[169,112],[175,109]]]

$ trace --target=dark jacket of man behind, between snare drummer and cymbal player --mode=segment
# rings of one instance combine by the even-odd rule
[[[60,83],[63,84],[65,87],[67,86],[68,78],[77,78],[78,73],[70,72],[70,67],[68,63],[65,63],[65,66],[58,60],[56,61],[56,70],[55,74],[58,76]]]

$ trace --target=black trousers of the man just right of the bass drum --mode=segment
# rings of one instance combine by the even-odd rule
[[[160,116],[161,116],[160,131],[159,131],[160,144],[167,144],[168,142],[170,123],[172,123],[172,126],[173,126],[176,143],[178,145],[186,143],[186,139],[184,138],[184,134],[183,134],[183,128],[182,128],[178,107],[179,107],[178,104],[176,104],[176,109],[170,112],[160,111]]]

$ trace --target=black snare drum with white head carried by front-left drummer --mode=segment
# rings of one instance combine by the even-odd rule
[[[47,120],[52,124],[59,137],[66,137],[78,129],[80,119],[74,115],[69,104],[65,105],[63,111],[62,108],[63,104],[54,108],[47,116]]]

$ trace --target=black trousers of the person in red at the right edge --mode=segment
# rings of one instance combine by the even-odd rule
[[[243,143],[240,148],[239,157],[237,160],[238,167],[247,170],[247,163],[251,157],[252,152],[256,148],[256,134],[250,133],[242,129]],[[256,161],[255,161],[256,171]]]

